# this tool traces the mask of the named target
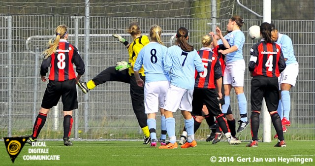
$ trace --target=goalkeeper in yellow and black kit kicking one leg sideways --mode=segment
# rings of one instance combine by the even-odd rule
[[[130,84],[130,96],[132,102],[133,111],[137,117],[139,126],[144,133],[144,144],[149,144],[151,142],[149,128],[147,126],[147,115],[144,113],[144,89],[137,85],[136,78],[133,72],[133,66],[137,59],[140,50],[147,45],[149,37],[146,35],[141,35],[140,27],[137,22],[132,22],[127,33],[131,35],[133,41],[129,43],[120,35],[113,34],[121,43],[123,43],[128,49],[129,62],[121,61],[116,63],[116,66],[111,66],[100,72],[92,80],[78,83],[83,93],[88,93],[90,90],[94,89],[97,85],[103,84],[107,81],[119,81]],[[127,69],[127,70],[126,70]],[[145,81],[144,69],[141,67],[139,70],[140,77]]]

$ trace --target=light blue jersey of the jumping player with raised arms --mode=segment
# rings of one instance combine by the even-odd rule
[[[230,44],[230,46],[237,46],[238,50],[225,55],[225,62],[230,63],[237,60],[243,60],[243,46],[245,43],[245,35],[241,30],[234,30],[227,33],[224,38]],[[218,41],[218,45],[223,44],[222,40]]]

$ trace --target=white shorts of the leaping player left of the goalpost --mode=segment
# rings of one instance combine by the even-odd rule
[[[244,87],[244,74],[244,60],[226,63],[223,74],[223,84],[230,84],[232,87]]]

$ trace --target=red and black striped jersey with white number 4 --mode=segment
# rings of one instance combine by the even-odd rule
[[[285,66],[284,56],[278,44],[261,40],[252,46],[249,70],[253,76],[279,77]]]

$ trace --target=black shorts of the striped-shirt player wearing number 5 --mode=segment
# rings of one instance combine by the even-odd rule
[[[218,94],[216,94],[215,89],[194,88],[192,94],[192,113],[202,116],[203,104],[207,106],[209,114],[217,116],[222,113]]]

